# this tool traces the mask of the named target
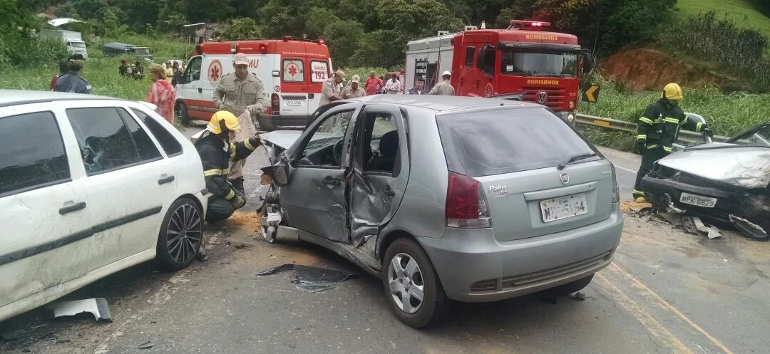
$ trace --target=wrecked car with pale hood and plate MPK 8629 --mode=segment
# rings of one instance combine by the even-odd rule
[[[752,239],[770,232],[770,122],[727,142],[691,146],[658,161],[642,179],[655,209],[671,206]]]

